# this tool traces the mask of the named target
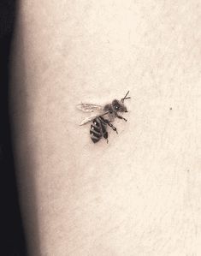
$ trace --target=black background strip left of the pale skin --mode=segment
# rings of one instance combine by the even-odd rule
[[[27,246],[16,186],[16,170],[9,120],[10,48],[15,23],[15,0],[0,3],[0,171],[1,171],[1,248],[4,256],[25,256]]]

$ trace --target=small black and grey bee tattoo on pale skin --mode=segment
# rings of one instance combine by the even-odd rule
[[[124,104],[124,100],[130,97],[127,97],[129,91],[121,98],[121,100],[114,99],[111,104],[98,105],[98,104],[78,104],[77,108],[84,112],[91,112],[91,116],[87,116],[80,125],[84,125],[88,122],[92,122],[90,128],[90,136],[93,143],[97,143],[99,140],[104,138],[108,143],[108,131],[107,126],[113,129],[113,131],[118,134],[117,129],[112,124],[115,117],[120,118],[127,122],[127,119],[123,116],[120,116],[119,113],[128,112],[127,107]]]

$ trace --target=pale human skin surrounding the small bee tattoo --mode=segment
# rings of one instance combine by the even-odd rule
[[[21,0],[10,89],[33,256],[201,253],[201,5]],[[80,102],[130,91],[93,144]]]

